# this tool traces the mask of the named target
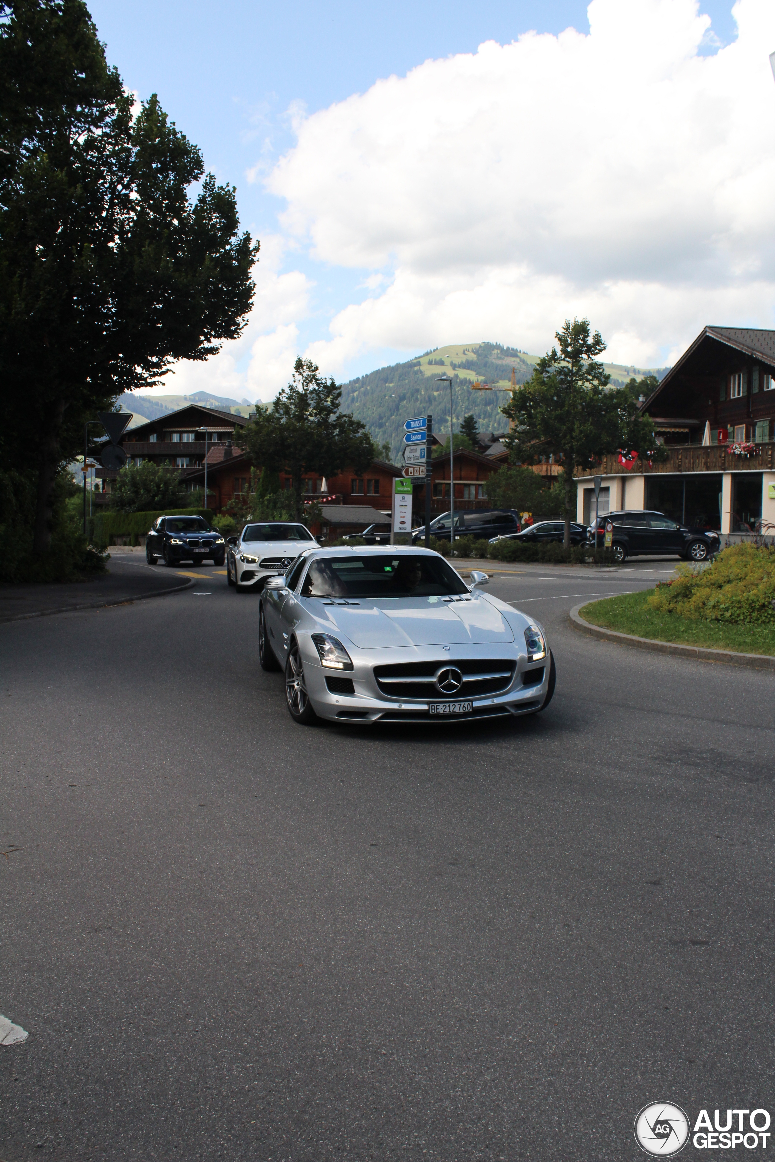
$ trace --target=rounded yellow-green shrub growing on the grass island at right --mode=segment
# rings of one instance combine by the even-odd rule
[[[775,623],[775,547],[733,545],[705,568],[679,566],[679,576],[656,586],[652,609],[734,625]]]

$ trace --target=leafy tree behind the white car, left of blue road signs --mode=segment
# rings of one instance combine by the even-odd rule
[[[331,476],[342,468],[360,474],[372,464],[374,447],[364,424],[339,411],[342,388],[320,374],[309,359],[296,359],[293,379],[270,410],[260,410],[241,435],[254,466],[285,469],[295,519],[304,511],[306,473]]]

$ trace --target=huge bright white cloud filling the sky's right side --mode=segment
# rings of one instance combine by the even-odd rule
[[[326,372],[372,347],[543,351],[574,314],[640,364],[708,322],[773,325],[775,5],[739,0],[713,56],[694,0],[588,12],[589,35],[488,42],[293,110],[267,179],[286,234],[388,280],[310,345]]]

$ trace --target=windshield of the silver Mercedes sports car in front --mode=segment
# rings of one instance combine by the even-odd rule
[[[302,597],[446,597],[468,593],[440,557],[329,557],[313,561]]]

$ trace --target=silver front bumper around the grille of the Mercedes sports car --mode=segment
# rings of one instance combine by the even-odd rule
[[[415,650],[375,650],[368,654],[365,651],[353,651],[349,646],[354,668],[352,670],[335,670],[324,669],[321,666],[317,650],[309,638],[304,640],[303,637],[300,637],[299,646],[304,665],[304,682],[315,713],[320,718],[326,718],[331,722],[365,725],[378,722],[444,722],[449,724],[450,722],[473,722],[480,718],[510,718],[534,713],[541,708],[548,693],[551,651],[540,661],[529,664],[525,653],[518,654],[514,646],[508,650],[503,645],[455,647],[449,654],[442,653],[438,646],[418,646]],[[439,694],[438,698],[433,700],[438,702],[471,702],[469,713],[431,715],[430,703],[426,700],[387,697],[379,689],[374,677],[374,667],[386,662],[394,665],[432,661],[438,665],[446,662],[454,665],[455,661],[480,661],[489,657],[495,660],[507,655],[510,655],[511,660],[516,662],[514,677],[508,689],[498,694],[466,695],[465,698],[445,698],[443,694]],[[531,677],[538,676],[537,672],[541,669],[541,681],[531,681]],[[526,684],[525,676],[528,675]],[[351,680],[353,693],[344,694],[337,689],[330,689],[326,679],[338,679],[345,682]]]

